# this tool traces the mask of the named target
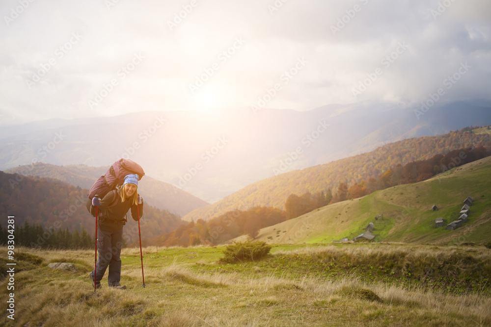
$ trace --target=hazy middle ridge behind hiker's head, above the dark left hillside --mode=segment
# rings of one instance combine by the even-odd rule
[[[85,165],[56,166],[36,163],[7,169],[10,174],[31,175],[55,178],[74,186],[90,189],[99,176],[104,175],[109,167],[89,167]],[[195,196],[173,187],[172,185],[144,176],[138,182],[138,192],[145,202],[181,217],[190,211],[208,203]]]

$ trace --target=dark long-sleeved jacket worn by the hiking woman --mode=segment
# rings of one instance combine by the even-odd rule
[[[95,217],[95,206],[92,206],[91,200],[87,201],[87,209]],[[139,204],[137,208],[134,203],[130,203],[130,200],[121,202],[121,196],[118,191],[110,191],[101,199],[101,205],[98,206],[99,227],[109,232],[123,230],[123,225],[126,222],[126,213],[130,209],[133,220],[138,221],[143,215],[143,203]]]

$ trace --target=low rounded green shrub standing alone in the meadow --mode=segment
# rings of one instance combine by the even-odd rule
[[[271,245],[266,242],[247,240],[246,242],[237,242],[231,244],[223,250],[225,255],[220,259],[223,263],[233,263],[236,261],[258,260],[268,254],[271,250]]]

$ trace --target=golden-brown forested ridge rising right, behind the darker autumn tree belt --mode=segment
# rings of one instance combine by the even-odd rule
[[[467,127],[444,135],[411,138],[387,144],[369,153],[264,179],[221,201],[192,211],[183,220],[208,220],[237,208],[255,206],[284,209],[285,201],[291,194],[337,190],[341,183],[354,185],[362,180],[368,181],[397,165],[427,160],[436,154],[445,155],[463,148],[491,147],[490,134],[477,134],[472,130]]]

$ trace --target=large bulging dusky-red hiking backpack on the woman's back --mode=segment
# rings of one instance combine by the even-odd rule
[[[99,177],[99,179],[95,181],[94,185],[92,185],[89,190],[89,194],[87,194],[88,198],[92,200],[96,195],[101,199],[104,198],[109,191],[116,188],[116,185],[123,184],[124,177],[128,174],[136,174],[138,175],[138,180],[140,180],[141,177],[145,175],[145,172],[135,161],[130,159],[119,159],[109,167],[106,175]]]

